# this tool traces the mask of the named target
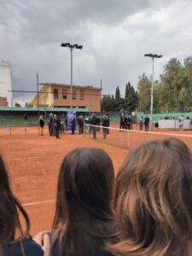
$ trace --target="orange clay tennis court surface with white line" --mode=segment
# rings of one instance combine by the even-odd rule
[[[192,149],[192,131],[163,131],[189,135],[180,137]],[[73,148],[84,146],[104,149],[111,159],[115,172],[125,159],[128,149],[110,145],[120,141],[122,132],[110,134],[106,141],[98,137],[96,140],[82,135],[61,135],[61,140],[49,137],[45,127],[44,136],[38,135],[37,127],[12,129],[0,134],[0,151],[9,170],[9,179],[14,194],[26,208],[32,223],[32,235],[41,230],[50,230],[55,211],[55,193],[57,176],[61,160]],[[1,136],[2,135],[2,136]],[[123,135],[125,136],[125,134]],[[111,137],[111,138],[110,138]],[[131,148],[150,139],[163,139],[166,135],[134,134],[130,136]],[[88,191],[89,192],[89,191]]]

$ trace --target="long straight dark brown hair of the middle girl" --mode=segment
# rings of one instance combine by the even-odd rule
[[[61,255],[91,255],[116,236],[113,163],[100,148],[77,148],[61,164],[53,230]]]

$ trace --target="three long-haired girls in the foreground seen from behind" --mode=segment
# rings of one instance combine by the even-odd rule
[[[1,157],[0,197],[0,256],[191,255],[192,155],[173,137],[134,148],[116,177],[101,148],[73,149],[61,163],[52,230],[33,240]]]

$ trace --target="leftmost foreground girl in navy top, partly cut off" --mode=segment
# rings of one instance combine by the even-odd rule
[[[23,230],[19,214],[26,223],[26,230]],[[29,231],[29,218],[10,190],[9,177],[0,155],[0,256],[44,256]]]

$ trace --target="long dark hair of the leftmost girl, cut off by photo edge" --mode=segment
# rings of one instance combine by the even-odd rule
[[[26,222],[26,230],[20,224],[19,212]],[[29,236],[30,222],[26,211],[12,194],[9,178],[0,155],[0,247]],[[0,252],[2,248],[0,248]]]

